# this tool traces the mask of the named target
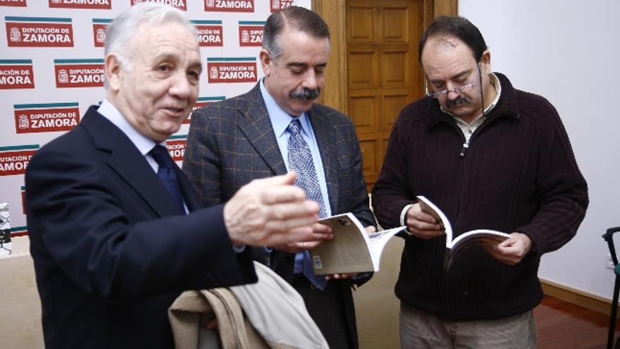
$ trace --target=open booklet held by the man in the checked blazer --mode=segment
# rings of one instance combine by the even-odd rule
[[[309,251],[316,275],[378,271],[387,240],[405,228],[368,234],[350,212],[321,219],[319,223],[330,226],[334,238]]]

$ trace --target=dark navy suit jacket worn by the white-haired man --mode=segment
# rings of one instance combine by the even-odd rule
[[[223,207],[201,208],[178,176],[186,216],[96,107],[32,157],[27,224],[46,348],[173,348],[167,310],[182,290],[256,281]]]

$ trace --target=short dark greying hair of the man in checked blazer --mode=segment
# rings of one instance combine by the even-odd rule
[[[299,6],[285,7],[281,11],[272,13],[263,28],[263,49],[269,52],[274,61],[283,54],[280,34],[286,26],[319,39],[330,38],[327,24],[314,11]]]

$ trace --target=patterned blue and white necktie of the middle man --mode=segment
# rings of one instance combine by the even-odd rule
[[[327,212],[325,212],[321,187],[318,185],[312,153],[308,143],[302,137],[301,129],[302,125],[297,119],[294,119],[288,125],[288,130],[291,134],[288,139],[288,166],[290,170],[297,172],[297,179],[294,185],[305,190],[306,199],[318,203],[318,207],[320,207],[318,216],[319,218],[325,218]],[[314,274],[308,250],[304,251],[304,276],[319,290],[324,290],[325,286],[327,286],[324,276]]]

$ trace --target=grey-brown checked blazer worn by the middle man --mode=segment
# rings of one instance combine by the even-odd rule
[[[314,104],[308,115],[321,152],[331,214],[352,212],[364,226],[375,226],[368,208],[359,142],[351,120],[320,104]],[[259,84],[246,94],[192,113],[183,171],[207,206],[226,202],[251,180],[287,172]],[[264,249],[254,251],[256,260],[269,264],[280,276],[292,281],[293,254],[272,253],[266,260]],[[349,335],[356,343],[351,283],[330,282],[342,283],[347,321],[353,332]],[[326,304],[323,310],[329,307]]]

